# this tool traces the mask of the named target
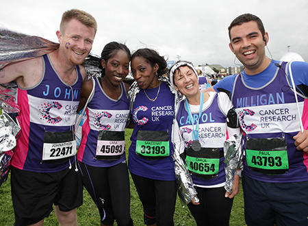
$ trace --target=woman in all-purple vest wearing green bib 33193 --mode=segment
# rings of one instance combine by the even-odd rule
[[[176,92],[162,76],[166,61],[152,49],[133,53],[131,72],[129,171],[144,208],[144,224],[173,225],[177,185],[170,138]]]

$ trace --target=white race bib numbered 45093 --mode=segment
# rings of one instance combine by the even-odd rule
[[[96,151],[98,160],[118,160],[124,151],[124,131],[99,131]]]

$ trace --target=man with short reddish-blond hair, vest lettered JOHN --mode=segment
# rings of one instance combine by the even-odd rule
[[[77,225],[82,205],[81,177],[75,162],[74,125],[97,23],[88,13],[68,10],[57,38],[60,46],[42,57],[8,64],[0,84],[18,84],[21,133],[11,171],[15,225],[43,225],[55,205],[60,225]]]

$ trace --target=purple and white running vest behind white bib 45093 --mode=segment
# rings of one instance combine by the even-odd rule
[[[99,79],[95,78],[94,96],[88,103],[87,121],[82,127],[82,140],[77,158],[90,166],[109,167],[126,160],[125,152],[118,160],[99,160],[96,157],[99,131],[125,131],[129,116],[129,100],[125,86],[120,84],[122,93],[117,100],[110,99],[101,88]]]

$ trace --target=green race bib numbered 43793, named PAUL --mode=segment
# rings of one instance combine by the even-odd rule
[[[246,162],[257,172],[268,175],[289,170],[287,147],[283,138],[251,138],[247,140]]]

